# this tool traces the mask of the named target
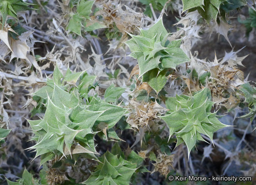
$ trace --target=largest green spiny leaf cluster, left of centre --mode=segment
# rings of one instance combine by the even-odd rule
[[[46,100],[44,118],[28,120],[35,133],[33,140],[37,142],[29,149],[36,150],[36,157],[41,156],[41,164],[68,154],[86,153],[88,158],[96,158],[93,136],[99,131],[107,133],[126,112],[125,108],[100,98],[88,97],[89,86],[95,78],[85,72],[72,73],[69,68],[63,76],[56,67],[53,79],[48,79],[47,86],[34,93]],[[97,127],[101,122],[106,125],[105,129]],[[112,130],[107,136],[119,139]]]

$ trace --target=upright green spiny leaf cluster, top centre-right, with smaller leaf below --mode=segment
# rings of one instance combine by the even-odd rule
[[[169,69],[189,61],[180,49],[180,40],[169,42],[168,36],[161,18],[151,28],[141,29],[140,35],[131,35],[132,39],[125,42],[132,51],[130,56],[138,60],[140,77],[156,92],[164,87]]]

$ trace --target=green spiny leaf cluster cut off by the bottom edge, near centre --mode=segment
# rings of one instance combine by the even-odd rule
[[[117,144],[116,144],[117,145]],[[114,147],[120,150],[119,154],[112,154],[107,151],[99,158],[100,163],[96,172],[84,181],[86,185],[129,185],[132,174],[137,170],[136,164],[124,160],[124,154],[120,147]],[[116,153],[116,151],[115,151]],[[137,154],[136,154],[137,155]],[[137,155],[138,156],[138,155]],[[133,158],[134,159],[134,158]]]

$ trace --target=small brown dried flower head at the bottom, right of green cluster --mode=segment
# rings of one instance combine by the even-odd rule
[[[153,164],[155,166],[154,172],[160,172],[161,175],[167,177],[168,173],[170,173],[171,167],[173,168],[173,157],[174,155],[166,155],[160,153],[156,159],[156,163]]]

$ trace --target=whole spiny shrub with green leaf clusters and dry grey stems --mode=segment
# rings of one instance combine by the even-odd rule
[[[198,141],[213,143],[214,133],[230,126],[219,121],[224,112],[248,107],[240,118],[252,122],[256,88],[238,69],[246,56],[239,58],[240,50],[232,50],[221,61],[207,61],[190,50],[200,32],[216,31],[229,42],[229,14],[246,6],[250,18],[239,20],[248,34],[255,27],[254,4],[0,1],[0,182],[129,185],[150,172],[150,166],[152,173],[167,177],[179,161],[172,146],[184,144],[188,162]],[[154,10],[161,11],[158,18]],[[172,34],[163,23],[164,12],[170,11],[180,14]],[[100,40],[109,42],[104,55]],[[45,42],[54,44],[51,51]],[[37,52],[35,46],[46,50]],[[16,115],[9,117],[13,107]],[[31,118],[24,110],[31,111]],[[24,172],[13,182],[18,177],[6,170],[7,161],[17,157],[15,150],[27,158],[21,145],[28,137],[32,144],[26,149],[36,154],[29,154],[33,162],[27,168],[33,173],[41,166],[40,177],[20,161],[16,171]],[[204,158],[211,153],[211,145],[205,147]]]

